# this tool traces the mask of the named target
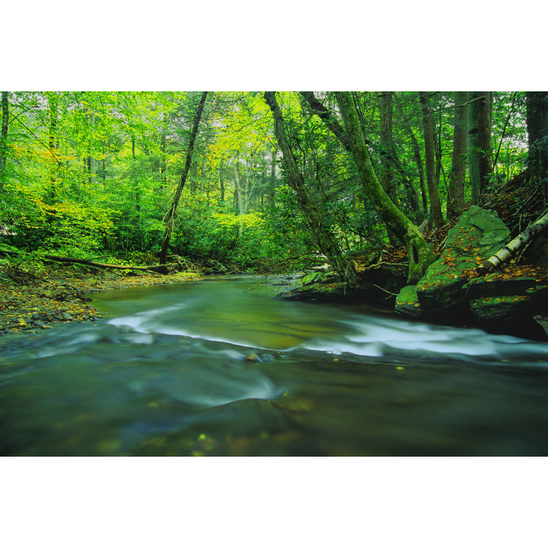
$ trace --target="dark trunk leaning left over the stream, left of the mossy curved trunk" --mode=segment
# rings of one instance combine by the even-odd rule
[[[322,250],[322,253],[326,255],[328,261],[336,270],[341,281],[349,283],[352,287],[357,287],[361,281],[358,273],[354,269],[352,262],[348,261],[343,253],[341,253],[338,244],[329,233],[328,226],[326,226],[323,220],[323,215],[319,212],[305,185],[304,178],[302,177],[296,159],[287,141],[282,112],[276,101],[275,93],[265,92],[264,98],[272,111],[272,116],[274,118],[274,133],[287,166],[289,183],[299,197],[302,212],[306,215],[306,219],[316,238],[316,242]]]

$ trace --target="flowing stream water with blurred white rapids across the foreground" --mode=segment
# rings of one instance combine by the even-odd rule
[[[254,277],[94,295],[0,339],[0,454],[548,455],[548,344],[273,299]]]

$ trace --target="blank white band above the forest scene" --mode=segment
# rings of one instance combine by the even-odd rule
[[[538,90],[538,15],[507,0],[32,0],[2,8],[0,78],[11,90]]]

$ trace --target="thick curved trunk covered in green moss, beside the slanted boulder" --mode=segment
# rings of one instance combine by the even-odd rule
[[[414,283],[423,277],[427,267],[435,260],[435,256],[427,247],[416,226],[392,203],[377,179],[367,152],[352,96],[349,92],[336,92],[336,98],[364,189],[386,226],[393,230],[406,246],[409,256],[408,282]]]

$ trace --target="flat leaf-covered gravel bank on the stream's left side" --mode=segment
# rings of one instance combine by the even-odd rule
[[[4,269],[3,274],[6,279],[0,280],[0,336],[49,329],[56,323],[96,321],[102,316],[90,304],[90,293],[188,282],[200,277],[194,272],[122,275],[73,265],[50,266],[39,274]]]

